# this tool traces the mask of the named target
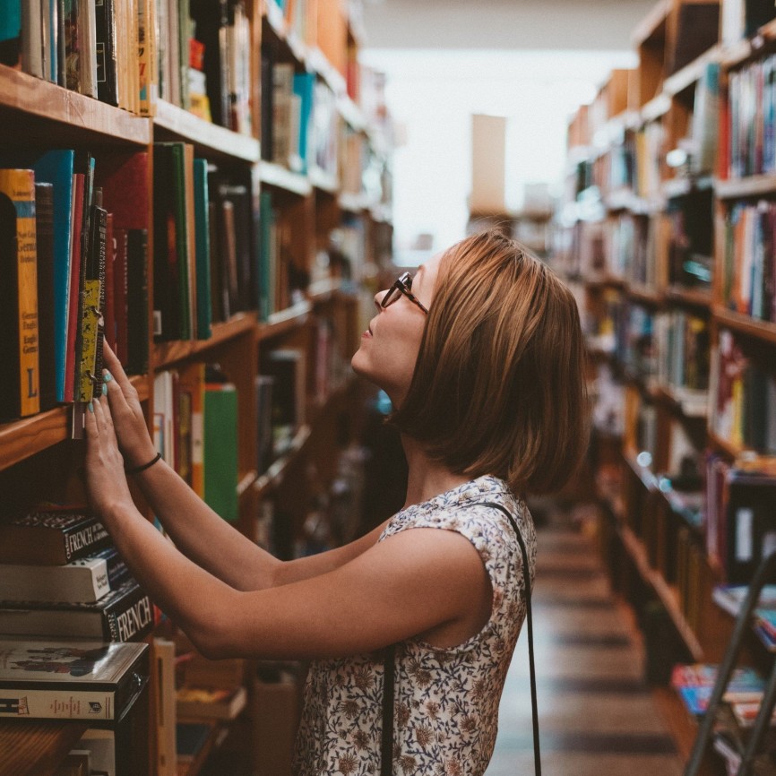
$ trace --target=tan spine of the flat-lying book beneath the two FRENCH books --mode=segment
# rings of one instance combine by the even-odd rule
[[[105,690],[35,690],[0,685],[0,719],[113,720],[114,694]]]

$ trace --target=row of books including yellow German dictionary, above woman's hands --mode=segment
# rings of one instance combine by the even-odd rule
[[[16,156],[24,167],[0,172],[13,279],[0,292],[9,332],[0,417],[91,401],[103,336],[130,373],[147,369],[146,157],[98,164],[54,150]]]

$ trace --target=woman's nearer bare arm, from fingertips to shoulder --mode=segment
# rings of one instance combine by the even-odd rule
[[[137,512],[104,403],[94,402],[86,424],[92,505],[138,582],[206,656],[342,656],[439,626],[463,628],[464,637],[481,627],[487,574],[476,549],[451,531],[401,532],[315,579],[235,590]]]

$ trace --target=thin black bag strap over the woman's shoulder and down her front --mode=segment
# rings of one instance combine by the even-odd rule
[[[541,776],[541,753],[539,751],[539,711],[536,699],[536,665],[533,659],[533,617],[530,610],[530,567],[528,565],[528,551],[522,534],[517,527],[512,513],[501,504],[492,501],[482,501],[471,506],[492,506],[501,510],[509,520],[517,537],[522,553],[522,578],[525,582],[525,607],[528,620],[528,662],[530,667],[530,711],[533,721],[533,764],[536,776]],[[383,688],[383,736],[380,747],[380,776],[392,776],[393,774],[393,685],[395,675],[396,645],[392,644],[384,650],[384,688]]]

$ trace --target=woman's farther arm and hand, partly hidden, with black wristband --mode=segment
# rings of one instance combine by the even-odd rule
[[[110,415],[127,464],[151,461],[156,450],[137,392],[107,345],[105,363],[111,375],[105,383]],[[135,474],[134,480],[177,548],[237,590],[259,590],[331,571],[373,545],[382,530],[331,552],[285,564],[222,520],[165,461]]]

